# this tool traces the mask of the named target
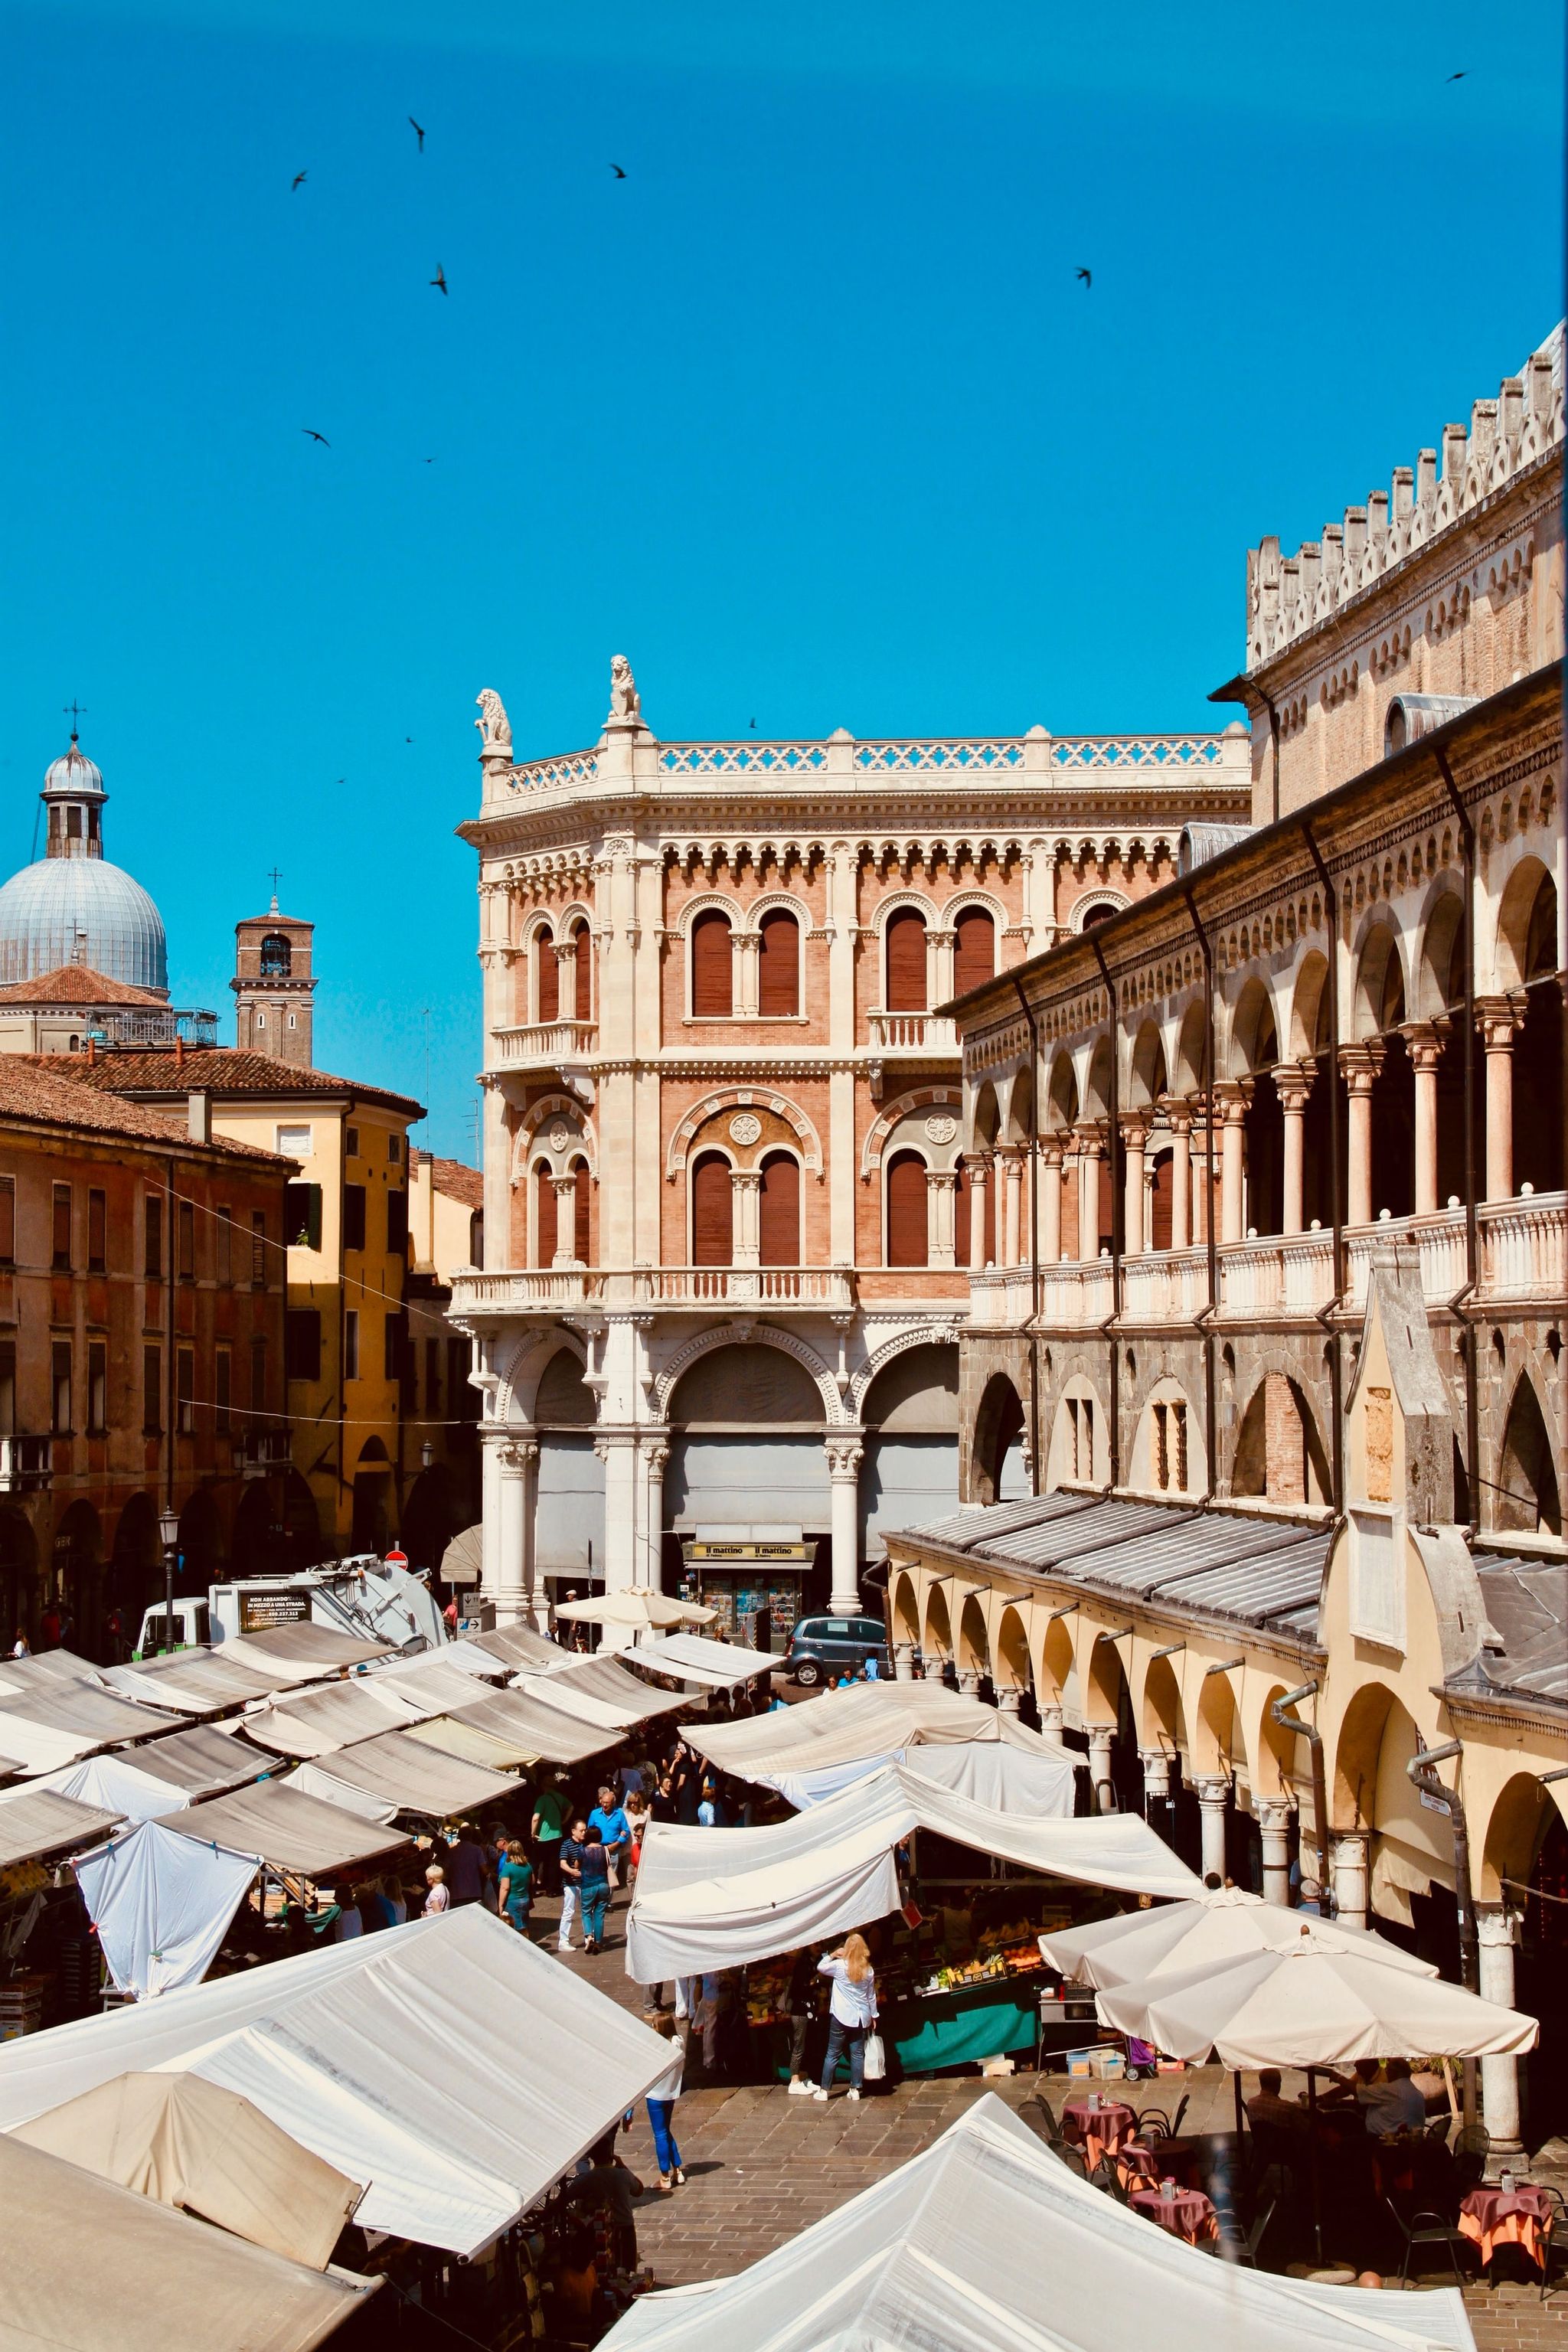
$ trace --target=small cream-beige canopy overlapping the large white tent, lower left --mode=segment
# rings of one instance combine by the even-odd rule
[[[200,2074],[115,2074],[19,2124],[16,2143],[310,2270],[327,2267],[364,2194],[249,2098]]]

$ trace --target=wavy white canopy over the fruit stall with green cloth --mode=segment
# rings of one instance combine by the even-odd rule
[[[651,1823],[625,1966],[642,1985],[795,1952],[900,1905],[896,1846],[933,1830],[1025,1870],[1128,1893],[1192,1896],[1199,1879],[1135,1813],[1027,1820],[889,1764],[792,1820],[755,1830]]]

